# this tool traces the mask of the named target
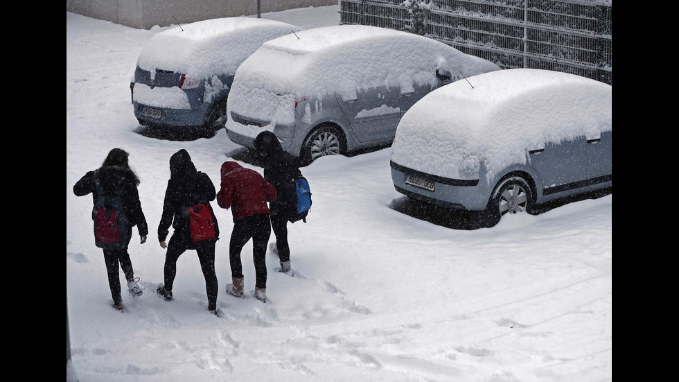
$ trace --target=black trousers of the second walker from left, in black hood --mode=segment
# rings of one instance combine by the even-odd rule
[[[177,274],[177,259],[186,250],[195,250],[200,261],[200,269],[205,277],[205,290],[207,293],[208,309],[217,309],[217,272],[215,272],[215,240],[206,240],[193,243],[191,238],[183,234],[173,234],[168,243],[168,252],[165,255],[165,290],[172,290]]]

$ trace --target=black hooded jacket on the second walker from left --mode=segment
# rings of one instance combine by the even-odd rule
[[[191,217],[188,208],[204,203],[212,213],[215,224],[215,238],[219,238],[219,225],[210,202],[215,200],[215,185],[206,173],[195,169],[191,156],[182,148],[170,157],[170,180],[165,191],[163,215],[158,225],[158,240],[165,241],[169,234],[170,225],[174,234],[185,235],[191,242]]]

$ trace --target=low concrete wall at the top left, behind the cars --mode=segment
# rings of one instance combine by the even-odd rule
[[[261,12],[332,6],[338,0],[260,0]],[[133,28],[257,14],[257,0],[66,0],[66,10]],[[177,21],[175,21],[175,18]]]

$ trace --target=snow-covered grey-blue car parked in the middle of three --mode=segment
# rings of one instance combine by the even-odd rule
[[[500,70],[412,33],[328,26],[270,40],[236,71],[227,102],[231,141],[254,148],[269,130],[302,163],[394,139],[401,116],[442,85]]]

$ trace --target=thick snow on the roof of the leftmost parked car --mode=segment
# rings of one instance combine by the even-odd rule
[[[254,17],[224,17],[177,26],[157,33],[143,47],[141,69],[163,69],[194,78],[233,74],[261,44],[299,31],[281,21]]]

